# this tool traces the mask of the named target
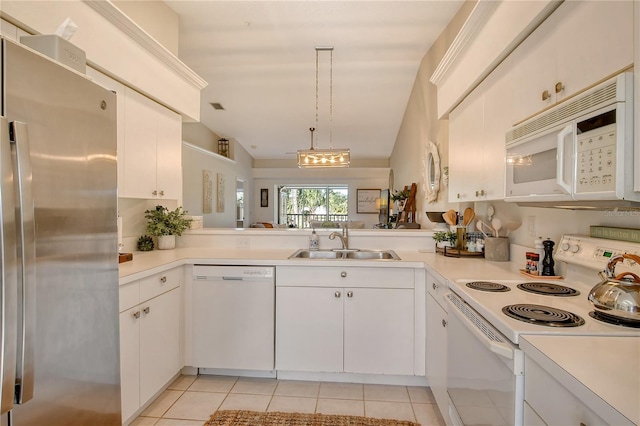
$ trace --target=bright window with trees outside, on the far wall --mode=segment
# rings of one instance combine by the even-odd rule
[[[286,185],[278,187],[278,222],[294,228],[325,227],[349,220],[349,187],[346,185]],[[331,222],[331,223],[330,223]],[[323,226],[323,225],[320,225]]]

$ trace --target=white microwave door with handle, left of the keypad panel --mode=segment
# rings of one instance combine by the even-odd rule
[[[505,201],[568,201],[574,180],[575,125],[562,124],[506,149]]]

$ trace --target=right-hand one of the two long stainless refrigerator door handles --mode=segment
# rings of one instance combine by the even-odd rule
[[[27,125],[11,123],[14,159],[16,227],[18,235],[18,346],[15,402],[33,398],[35,367],[35,221],[32,195],[31,158]]]

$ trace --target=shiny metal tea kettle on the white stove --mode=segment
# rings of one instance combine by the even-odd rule
[[[640,277],[631,272],[616,275],[616,263],[631,259],[640,264],[640,256],[622,254],[614,256],[604,271],[603,281],[589,292],[589,301],[596,310],[607,315],[640,321]]]

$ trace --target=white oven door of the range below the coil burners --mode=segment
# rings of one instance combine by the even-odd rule
[[[447,394],[456,426],[522,425],[524,355],[455,294],[447,295]]]

